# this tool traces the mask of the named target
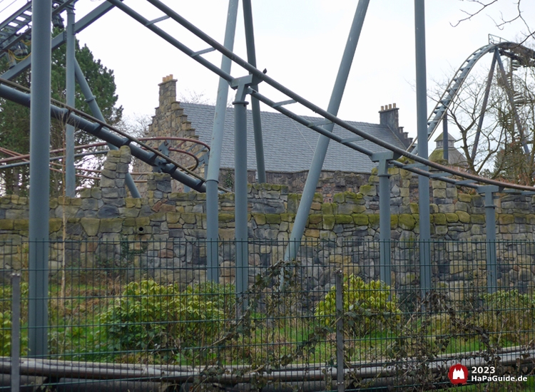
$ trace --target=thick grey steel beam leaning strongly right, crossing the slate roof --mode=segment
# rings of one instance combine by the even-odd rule
[[[359,0],[357,10],[355,11],[355,17],[353,18],[350,34],[347,38],[342,61],[340,62],[340,68],[338,69],[335,86],[332,88],[332,95],[327,108],[327,112],[332,115],[337,115],[340,103],[342,102],[345,84],[347,83],[347,77],[350,73],[353,57],[355,56],[368,4],[370,4],[370,0]],[[332,133],[332,128],[334,128],[334,126],[334,124],[328,124],[323,128]],[[297,249],[299,249],[302,234],[305,232],[305,225],[310,212],[310,206],[312,205],[312,199],[314,198],[317,181],[320,179],[325,154],[329,147],[329,140],[329,138],[326,138],[323,135],[317,140],[314,158],[312,158],[312,165],[308,171],[307,181],[305,182],[305,188],[302,192],[301,201],[297,208],[297,215],[295,215],[295,222],[290,234],[290,240],[285,254],[285,259],[287,260],[295,259],[295,256],[297,255]]]

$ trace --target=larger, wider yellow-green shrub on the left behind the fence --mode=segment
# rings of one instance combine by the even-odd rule
[[[205,294],[203,287],[213,294],[230,291],[202,284],[180,292],[176,284],[151,279],[128,284],[101,314],[113,349],[180,352],[211,344],[223,331],[225,296]]]

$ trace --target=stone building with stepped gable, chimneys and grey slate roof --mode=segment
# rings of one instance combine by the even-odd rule
[[[159,84],[159,105],[148,127],[148,137],[175,137],[187,140],[169,140],[167,146],[163,140],[153,140],[151,145],[169,150],[170,158],[181,165],[193,169],[204,176],[208,167],[209,152],[205,145],[210,145],[213,130],[215,106],[198,103],[179,103],[176,100],[176,79],[173,76],[163,78]],[[263,148],[266,178],[268,183],[287,185],[290,192],[302,192],[308,170],[317,144],[319,134],[287,118],[282,113],[263,111],[260,113],[263,133]],[[320,118],[307,117],[312,122]],[[399,148],[407,148],[411,139],[407,138],[399,126],[399,108],[386,105],[379,111],[379,124],[349,121],[351,125],[374,135]],[[350,131],[335,125],[333,132],[342,138],[355,136]],[[201,144],[202,143],[202,144]],[[357,141],[374,152],[384,151],[367,140]],[[248,110],[248,172],[249,181],[255,182],[256,156],[253,135],[253,115]],[[367,155],[358,153],[339,143],[332,142],[327,150],[317,192],[322,193],[327,201],[335,192],[346,190],[357,192],[360,185],[367,183],[370,172],[375,166]],[[220,163],[220,185],[232,187],[234,167],[234,110],[227,108],[225,113],[225,130]],[[137,162],[134,166],[134,179],[143,181],[143,172],[151,167]],[[138,182],[143,193],[143,182]],[[183,191],[183,185],[175,183],[175,191]],[[187,190],[187,189],[185,189]]]

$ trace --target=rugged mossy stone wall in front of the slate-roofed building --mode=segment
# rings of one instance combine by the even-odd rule
[[[113,265],[153,269],[158,279],[189,283],[203,279],[206,237],[205,194],[172,192],[170,177],[148,176],[147,197],[126,197],[124,177],[131,160],[127,147],[110,151],[101,188],[86,189],[79,198],[50,202],[51,269],[63,264],[65,235],[72,242],[66,265],[95,267],[106,259]],[[392,232],[392,282],[411,287],[418,282],[418,205],[411,200],[416,178],[411,172],[390,169]],[[305,230],[305,244],[298,254],[310,267],[309,289],[330,284],[331,272],[343,267],[367,279],[379,274],[378,177],[360,192],[341,192],[325,202],[314,197]],[[431,181],[431,230],[434,239],[456,242],[432,244],[433,279],[437,287],[484,284],[486,263],[484,200],[461,193],[456,187]],[[249,237],[251,274],[282,258],[292,230],[300,195],[284,185],[249,185]],[[220,195],[221,274],[233,277],[234,195]],[[528,287],[535,282],[535,200],[503,195],[496,200],[498,239],[527,241],[500,244],[499,284]],[[0,198],[0,269],[20,269],[27,259],[28,200]],[[65,227],[63,234],[63,226]],[[320,243],[325,240],[327,243]],[[467,242],[470,241],[470,242]],[[108,243],[106,243],[108,242]],[[279,242],[279,243],[277,243]],[[531,244],[530,244],[531,243]],[[126,246],[126,248],[125,248]],[[314,267],[314,268],[312,268]],[[158,272],[156,272],[158,271]],[[187,273],[185,272],[187,271]],[[180,273],[183,272],[183,273]]]

